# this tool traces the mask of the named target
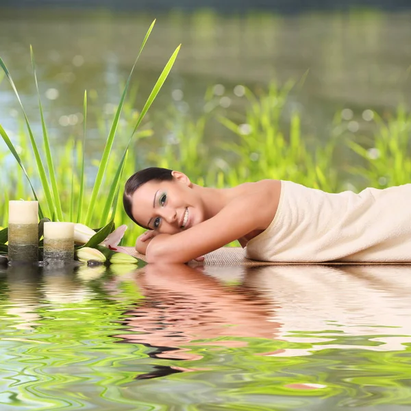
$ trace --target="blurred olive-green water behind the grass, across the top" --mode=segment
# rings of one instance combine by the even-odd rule
[[[158,21],[133,79],[135,110],[141,109],[179,43],[182,50],[149,114],[151,147],[170,133],[164,125],[170,106],[184,115],[203,114],[208,87],[219,99],[221,114],[234,116],[244,106],[238,86],[258,90],[272,80],[284,85],[303,79],[290,92],[283,121],[287,123],[290,112],[299,112],[303,132],[319,141],[329,138],[338,110],[346,109],[353,132],[366,133],[371,128],[366,110],[384,115],[399,103],[409,105],[411,10],[405,2],[237,3],[181,1],[172,7],[166,1],[107,1],[97,7],[92,1],[3,0],[1,56],[40,130],[29,58],[33,45],[55,144],[81,136],[85,89],[92,99],[88,138],[105,141],[92,112],[112,115],[153,18]],[[6,82],[0,85],[0,105],[0,123],[16,130],[18,108]],[[229,138],[216,121],[207,127],[210,145]],[[137,156],[146,153],[144,147],[142,143]],[[90,143],[89,150],[93,148]]]

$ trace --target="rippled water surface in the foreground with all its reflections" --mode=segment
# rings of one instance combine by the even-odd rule
[[[406,410],[408,266],[0,273],[1,410]]]

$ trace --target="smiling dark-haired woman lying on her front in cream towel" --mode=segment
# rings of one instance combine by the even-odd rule
[[[264,179],[233,188],[192,184],[149,168],[127,180],[127,215],[147,228],[148,262],[188,262],[238,240],[272,262],[411,262],[411,184],[330,194]]]

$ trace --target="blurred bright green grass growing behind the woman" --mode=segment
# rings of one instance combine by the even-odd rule
[[[130,223],[121,201],[115,201],[116,194],[129,175],[149,165],[178,169],[187,173],[195,183],[219,187],[275,178],[335,192],[346,188],[384,188],[410,182],[408,134],[411,116],[403,108],[384,120],[371,113],[373,121],[369,125],[372,132],[366,137],[360,132],[350,131],[350,123],[353,122],[343,120],[337,113],[328,140],[319,142],[315,136],[302,132],[304,119],[299,112],[288,113],[286,102],[291,86],[279,88],[273,82],[258,95],[245,89],[245,97],[238,97],[246,101],[242,113],[222,110],[219,107],[221,96],[214,95],[210,87],[203,101],[201,116],[193,117],[190,110],[180,110],[179,103],[176,103],[157,119],[165,137],[160,146],[151,141],[148,153],[144,151],[147,151],[147,139],[143,142],[142,138],[153,134],[151,124],[146,123],[136,132],[134,124],[139,124],[142,113],[134,110],[132,98],[124,99],[124,121],[118,121],[116,127],[117,134],[126,136],[126,140],[119,140],[116,147],[120,149],[111,150],[110,159],[105,156],[104,166],[95,158],[86,162],[84,189],[82,142],[69,140],[55,151],[53,161],[63,215],[101,227],[108,222],[110,214],[114,214],[115,208],[116,225],[125,223],[133,227],[125,236],[125,243],[132,245],[141,230]],[[101,133],[108,131],[105,129],[105,116],[97,115]],[[284,127],[284,123],[288,126]],[[218,127],[224,127],[225,131],[228,129],[231,138],[229,141],[214,138],[217,143],[210,145],[209,130]],[[18,155],[34,186],[38,186],[36,162],[26,149],[22,130],[23,126],[16,133],[16,146],[20,147]],[[127,136],[134,136],[132,144],[131,140],[127,141]],[[126,147],[129,147],[129,155],[124,158]],[[353,164],[358,165],[347,164],[342,159],[348,151],[351,151]],[[123,166],[122,175],[119,164]],[[99,179],[100,192],[104,195],[93,197],[92,189],[95,192],[97,189],[90,178],[90,174],[94,174],[90,170],[99,167],[105,170],[105,179]],[[10,170],[3,177],[0,184],[5,201],[0,204],[0,225],[5,226],[8,199],[27,198],[28,191],[21,169]],[[44,197],[40,195],[40,200],[43,201]]]

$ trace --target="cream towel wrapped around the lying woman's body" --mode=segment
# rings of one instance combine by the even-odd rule
[[[411,262],[411,184],[331,194],[282,181],[275,217],[247,243],[271,262]]]

